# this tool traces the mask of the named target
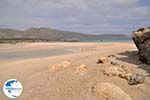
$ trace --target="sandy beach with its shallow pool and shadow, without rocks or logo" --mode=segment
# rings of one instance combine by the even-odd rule
[[[112,65],[97,64],[97,60],[112,54],[120,65],[145,75],[145,82],[132,86],[125,79],[104,75],[101,70]],[[69,64],[63,67],[62,62]],[[54,64],[59,68],[51,69]],[[21,81],[23,93],[17,100],[99,100],[92,88],[100,82],[118,86],[133,100],[149,100],[149,73],[150,66],[139,63],[132,42],[0,45],[0,83],[12,78]],[[2,86],[0,100],[8,100]]]

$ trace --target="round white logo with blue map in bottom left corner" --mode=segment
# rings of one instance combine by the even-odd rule
[[[22,84],[16,79],[9,79],[4,83],[3,91],[9,98],[16,98],[22,93]]]

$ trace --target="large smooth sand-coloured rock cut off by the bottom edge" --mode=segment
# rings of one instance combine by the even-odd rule
[[[98,83],[94,86],[93,92],[99,100],[132,100],[120,87],[111,83]]]

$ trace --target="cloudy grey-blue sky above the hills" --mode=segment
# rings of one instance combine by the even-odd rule
[[[0,0],[0,28],[131,34],[150,26],[150,0]]]

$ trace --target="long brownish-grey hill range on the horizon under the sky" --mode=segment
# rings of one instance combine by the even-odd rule
[[[86,41],[127,38],[128,36],[123,34],[87,35],[78,32],[61,31],[51,28],[29,28],[24,31],[0,29],[0,40]]]

